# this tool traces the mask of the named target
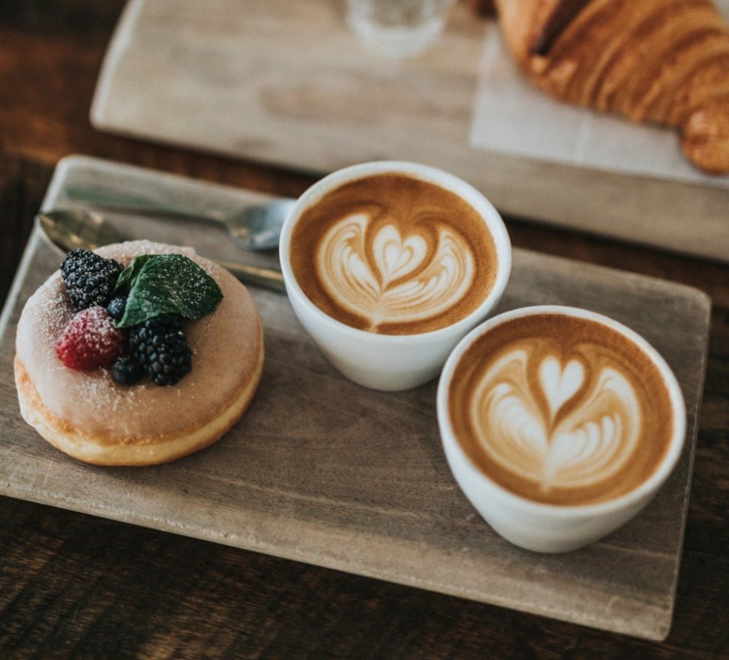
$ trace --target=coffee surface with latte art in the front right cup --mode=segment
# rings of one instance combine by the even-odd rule
[[[472,462],[511,492],[582,505],[630,492],[668,451],[668,389],[638,346],[564,314],[504,322],[453,372],[453,432]]]

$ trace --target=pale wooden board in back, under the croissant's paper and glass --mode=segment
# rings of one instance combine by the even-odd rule
[[[415,160],[467,179],[510,216],[729,260],[726,185],[472,147],[480,63],[487,39],[498,35],[464,3],[432,50],[405,61],[359,47],[342,4],[130,0],[91,121],[104,131],[308,171]],[[542,117],[536,107],[519,110],[531,123]]]

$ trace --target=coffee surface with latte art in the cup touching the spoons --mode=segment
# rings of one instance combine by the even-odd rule
[[[496,282],[494,238],[473,206],[413,176],[376,174],[303,211],[289,259],[325,314],[373,333],[426,333],[467,317]]]

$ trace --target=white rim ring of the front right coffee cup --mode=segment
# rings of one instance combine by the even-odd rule
[[[621,333],[623,336],[628,338],[628,340],[632,341],[639,349],[641,349],[642,352],[644,352],[644,354],[646,354],[654,363],[663,378],[663,382],[666,384],[666,389],[668,389],[668,396],[671,400],[671,411],[674,416],[674,427],[669,440],[668,451],[666,451],[665,456],[649,478],[631,491],[628,491],[619,497],[615,497],[612,500],[596,502],[593,504],[558,505],[547,502],[537,502],[536,500],[530,500],[527,497],[518,495],[504,488],[504,486],[498,484],[494,481],[494,479],[480,470],[480,468],[472,462],[468,454],[461,447],[461,444],[456,438],[456,434],[453,432],[451,416],[448,412],[448,392],[450,390],[453,373],[456,370],[456,366],[458,365],[461,356],[477,338],[488,333],[488,331],[492,330],[494,327],[502,325],[504,322],[512,319],[537,316],[540,314],[564,314],[568,317],[595,321],[610,327],[612,330],[617,330],[617,332]],[[666,360],[663,359],[660,353],[658,353],[658,351],[653,348],[653,346],[651,346],[645,338],[636,333],[635,330],[631,330],[628,326],[623,325],[604,314],[599,314],[598,312],[580,307],[566,305],[534,305],[520,307],[498,314],[495,317],[491,317],[491,319],[488,319],[486,322],[477,325],[477,327],[459,341],[456,348],[453,349],[453,352],[451,352],[448,356],[448,360],[446,360],[445,365],[443,366],[443,371],[441,372],[437,389],[436,409],[443,449],[446,450],[447,446],[449,446],[458,451],[459,455],[467,462],[474,473],[477,474],[480,479],[480,486],[489,489],[492,494],[502,497],[504,500],[512,503],[512,505],[521,507],[522,510],[525,510],[526,512],[550,513],[550,515],[561,519],[574,519],[590,515],[613,513],[618,510],[624,510],[636,502],[641,501],[643,497],[657,491],[663,482],[666,481],[668,476],[671,475],[685,446],[685,401],[677,378],[668,366]],[[454,474],[454,476],[456,475]],[[456,478],[456,481],[459,481],[458,478]]]

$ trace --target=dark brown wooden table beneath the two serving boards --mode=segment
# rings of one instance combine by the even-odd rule
[[[298,195],[313,181],[93,131],[88,109],[122,5],[0,0],[0,303],[53,167],[69,153],[279,195]],[[507,221],[517,246],[685,282],[714,301],[666,642],[0,497],[0,659],[728,659],[729,268]],[[727,222],[729,240],[729,205]]]

